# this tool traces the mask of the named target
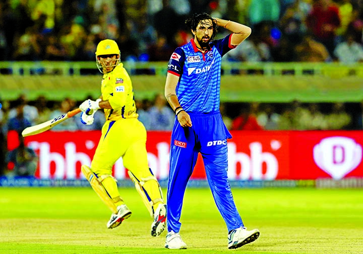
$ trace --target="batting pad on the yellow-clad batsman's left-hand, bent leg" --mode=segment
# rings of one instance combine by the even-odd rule
[[[90,183],[92,189],[97,193],[100,199],[106,204],[106,206],[112,211],[112,213],[117,213],[117,208],[115,203],[122,201],[120,197],[111,198],[107,193],[106,189],[102,185],[102,181],[108,177],[113,178],[110,175],[102,175],[101,177],[97,177],[86,165],[82,165],[81,171],[83,175],[86,177],[87,181]],[[116,180],[115,180],[116,181]]]

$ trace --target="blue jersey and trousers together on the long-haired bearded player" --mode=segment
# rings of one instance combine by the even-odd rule
[[[175,49],[168,73],[179,76],[176,95],[193,125],[182,127],[177,119],[171,133],[170,170],[167,188],[167,229],[179,232],[181,203],[187,183],[202,154],[208,183],[228,231],[243,227],[230,191],[227,139],[231,138],[219,112],[222,56],[234,48],[231,35],[209,44],[205,53],[192,39]]]

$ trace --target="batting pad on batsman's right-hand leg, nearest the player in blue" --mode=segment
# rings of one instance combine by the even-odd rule
[[[158,202],[164,203],[164,200],[162,197],[162,191],[161,191],[159,182],[157,181],[156,177],[150,176],[147,178],[137,179],[131,171],[128,171],[128,174],[129,174],[130,179],[134,182],[135,188],[136,188],[137,192],[140,194],[142,201],[144,202],[146,208],[148,209],[148,211],[150,213],[150,216],[154,217],[155,211],[154,211],[153,205]],[[158,195],[159,198],[152,199],[152,197],[150,197],[150,193],[148,193],[145,190],[144,184],[148,181],[155,181],[157,183],[158,192],[160,193],[160,195]]]

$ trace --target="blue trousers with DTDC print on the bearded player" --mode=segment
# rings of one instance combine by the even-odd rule
[[[170,172],[167,189],[167,230],[179,232],[181,207],[189,178],[203,157],[208,184],[228,231],[244,226],[233,201],[227,178],[227,138],[220,112],[188,114],[192,127],[181,127],[175,119],[170,142]]]

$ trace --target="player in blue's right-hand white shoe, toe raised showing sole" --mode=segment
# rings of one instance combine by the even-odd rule
[[[228,248],[239,248],[247,243],[253,242],[260,236],[258,229],[247,230],[239,227],[228,234]]]

